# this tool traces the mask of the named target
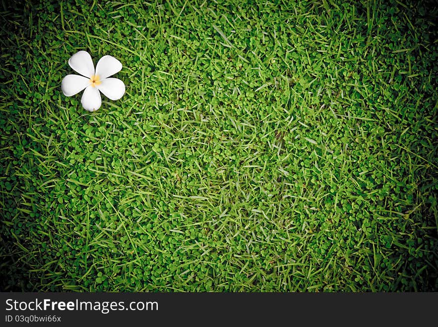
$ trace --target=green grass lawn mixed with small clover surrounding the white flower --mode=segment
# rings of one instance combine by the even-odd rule
[[[1,290],[438,290],[432,1],[3,2]]]

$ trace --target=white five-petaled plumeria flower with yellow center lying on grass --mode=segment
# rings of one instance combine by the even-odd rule
[[[125,85],[118,78],[108,78],[121,70],[121,63],[111,56],[103,56],[96,70],[87,51],[79,51],[69,59],[69,65],[79,75],[67,75],[62,79],[61,89],[65,96],[71,97],[85,89],[82,94],[82,107],[95,111],[102,105],[100,92],[110,100],[118,100],[125,93]],[[84,77],[85,76],[85,77]],[[100,92],[99,92],[100,91]]]

